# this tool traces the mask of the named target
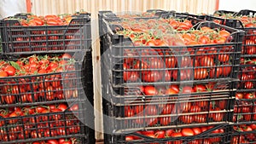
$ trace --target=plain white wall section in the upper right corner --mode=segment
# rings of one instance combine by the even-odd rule
[[[219,10],[240,11],[241,9],[256,10],[256,0],[219,0]]]

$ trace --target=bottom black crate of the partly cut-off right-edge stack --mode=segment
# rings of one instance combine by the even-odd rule
[[[230,131],[230,143],[229,144],[254,144],[256,143],[256,130],[241,131],[239,129],[250,129],[250,124],[234,125],[236,130]]]

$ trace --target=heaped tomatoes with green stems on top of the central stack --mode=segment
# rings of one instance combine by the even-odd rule
[[[135,46],[183,46],[230,41],[230,32],[225,30],[216,30],[207,26],[201,27],[200,30],[189,30],[193,26],[189,20],[128,19],[113,23],[125,28],[124,31],[117,33],[130,37]],[[177,35],[174,32],[177,32]]]

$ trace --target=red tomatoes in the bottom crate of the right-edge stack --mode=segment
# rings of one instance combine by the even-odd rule
[[[234,126],[234,130],[240,133],[232,137],[231,144],[251,143],[256,141],[256,124],[237,125]],[[242,132],[247,132],[247,134],[242,134]]]

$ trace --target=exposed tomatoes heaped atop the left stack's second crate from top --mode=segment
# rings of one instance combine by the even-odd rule
[[[57,56],[32,55],[16,61],[1,60],[0,78],[74,71],[73,65],[74,60],[69,54]]]

